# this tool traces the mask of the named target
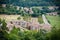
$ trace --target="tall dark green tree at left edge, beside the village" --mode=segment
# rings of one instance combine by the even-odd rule
[[[7,27],[6,27],[6,22],[5,20],[0,21],[2,26],[0,29],[0,40],[8,40],[8,33],[7,33]]]

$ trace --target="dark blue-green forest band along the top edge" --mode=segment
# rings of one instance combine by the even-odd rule
[[[60,3],[59,0],[0,0],[0,4],[13,4],[18,6],[53,6],[57,5],[59,6]]]

